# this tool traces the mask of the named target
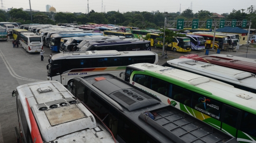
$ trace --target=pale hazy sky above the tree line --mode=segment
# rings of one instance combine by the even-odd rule
[[[29,0],[2,0],[7,8],[29,9]],[[102,0],[89,0],[89,11],[101,12]],[[56,8],[57,12],[82,12],[86,13],[88,0],[30,0],[31,9],[46,11],[46,5]],[[230,13],[232,9],[246,9],[253,4],[253,0],[103,0],[103,11],[148,11],[181,12],[191,8],[193,13],[199,10],[222,14]]]

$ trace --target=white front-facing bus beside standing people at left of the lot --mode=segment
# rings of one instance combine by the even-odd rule
[[[20,33],[20,44],[27,52],[40,52],[43,50],[42,37],[34,33]]]

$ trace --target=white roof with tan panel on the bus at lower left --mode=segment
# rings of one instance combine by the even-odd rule
[[[82,143],[83,136],[91,135],[92,141],[104,143],[100,137],[97,138],[94,135],[95,132],[90,131],[90,129],[97,128],[94,116],[80,101],[75,100],[73,95],[59,82],[43,81],[24,84],[17,87],[17,92],[25,107],[27,99],[44,142],[55,140],[61,143],[71,140],[71,138],[73,140],[75,137],[78,143]],[[27,109],[25,111],[28,112]],[[28,114],[26,117],[28,118]],[[28,126],[31,125],[28,124]],[[86,130],[86,132],[81,130]],[[63,138],[64,135],[67,136]],[[104,137],[111,139],[112,136]],[[89,138],[87,140],[90,141]]]

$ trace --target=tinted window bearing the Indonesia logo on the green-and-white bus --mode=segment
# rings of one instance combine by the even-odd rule
[[[192,108],[197,109],[211,117],[219,119],[221,102],[204,97],[201,94],[193,93]]]

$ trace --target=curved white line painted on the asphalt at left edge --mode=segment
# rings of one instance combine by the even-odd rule
[[[3,59],[4,64],[6,66],[6,68],[8,69],[9,73],[11,76],[18,78],[18,79],[22,79],[22,80],[27,80],[27,81],[33,81],[33,82],[39,82],[42,80],[37,80],[37,79],[31,79],[31,78],[26,78],[26,77],[22,77],[22,76],[18,76],[15,71],[13,70],[13,68],[10,66],[9,62],[7,61],[7,59],[4,57],[3,52],[0,50],[0,57]]]

